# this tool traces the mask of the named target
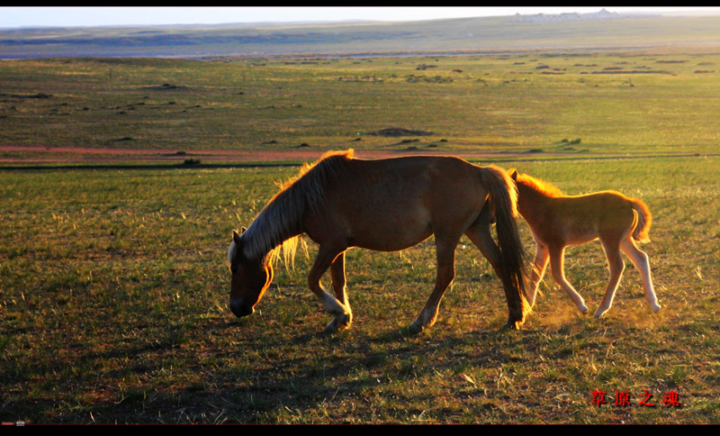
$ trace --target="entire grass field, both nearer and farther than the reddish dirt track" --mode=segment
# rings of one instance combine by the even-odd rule
[[[293,62],[2,62],[0,144],[37,146],[3,158],[65,159],[44,150],[55,146],[275,152],[302,142],[318,156],[527,152],[494,162],[568,194],[617,189],[650,206],[643,249],[662,311],[650,312],[628,261],[602,319],[578,313],[546,277],[524,329],[500,332],[500,281],[463,240],[437,324],[410,336],[435,275],[428,240],[348,252],[347,332],[322,334],[329,314],[306,286],[312,245],[294,268],[278,265],[257,313],[238,320],[230,232],[296,168],[4,168],[3,422],[720,422],[716,55]],[[641,67],[666,72],[627,72]],[[434,134],[367,134],[393,126]],[[608,279],[599,243],[569,250],[566,263],[592,312]],[[593,404],[594,391],[607,404]],[[617,391],[631,405],[616,406]],[[671,391],[679,406],[663,404]],[[639,405],[644,392],[653,407]]]

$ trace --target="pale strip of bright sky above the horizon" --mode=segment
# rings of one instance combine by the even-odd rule
[[[152,24],[219,24],[303,21],[419,21],[439,18],[514,14],[587,14],[610,12],[680,12],[720,7],[682,6],[275,6],[275,7],[0,7],[0,28]]]

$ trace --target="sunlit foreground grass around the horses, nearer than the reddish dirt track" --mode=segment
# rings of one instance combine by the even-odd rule
[[[547,278],[525,329],[499,332],[500,282],[464,240],[438,322],[419,336],[405,329],[432,286],[432,241],[401,254],[349,252],[350,331],[321,333],[329,314],[306,288],[303,256],[278,268],[258,312],[238,320],[227,308],[230,231],[294,169],[5,171],[0,416],[717,423],[720,186],[707,175],[718,159],[516,163],[569,194],[612,187],[650,205],[644,250],[661,313],[646,307],[629,267],[605,318],[577,313]],[[590,307],[599,304],[608,278],[599,244],[570,250],[567,262]],[[590,403],[596,389],[608,404]],[[616,390],[634,405],[614,406]],[[644,390],[654,408],[637,405]],[[671,390],[681,407],[662,405]]]

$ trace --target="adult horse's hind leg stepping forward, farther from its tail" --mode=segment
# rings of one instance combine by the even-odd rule
[[[437,234],[435,238],[437,250],[435,289],[433,289],[433,293],[428,298],[428,302],[420,311],[418,318],[410,324],[410,332],[414,334],[432,327],[435,323],[440,300],[443,298],[443,295],[445,295],[447,286],[450,286],[455,278],[455,247],[457,247],[459,238],[456,238],[455,241],[450,241],[450,239],[445,240],[438,238]]]

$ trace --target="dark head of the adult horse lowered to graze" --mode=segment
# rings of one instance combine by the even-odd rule
[[[232,231],[228,261],[232,272],[230,310],[241,318],[255,312],[255,305],[273,281],[273,266],[267,257],[248,259],[243,253],[240,235],[235,231]]]

